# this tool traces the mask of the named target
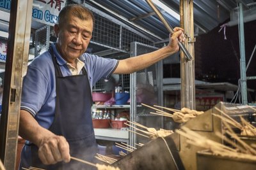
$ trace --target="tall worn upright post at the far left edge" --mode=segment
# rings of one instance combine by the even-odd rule
[[[9,24],[3,110],[0,128],[1,160],[15,169],[22,78],[28,66],[33,1],[12,1]]]

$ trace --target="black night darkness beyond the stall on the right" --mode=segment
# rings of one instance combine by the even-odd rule
[[[228,22],[228,20],[226,21]],[[224,22],[224,23],[226,23]],[[223,24],[224,24],[223,23]],[[222,25],[222,24],[220,24]],[[238,84],[240,78],[240,51],[238,25],[226,27],[224,39],[220,25],[207,34],[196,37],[195,78],[208,82]],[[256,21],[244,23],[246,65],[256,45]],[[256,52],[246,71],[246,76],[256,76]],[[180,64],[164,64],[164,78],[180,77]],[[247,86],[256,89],[256,80],[248,80]]]

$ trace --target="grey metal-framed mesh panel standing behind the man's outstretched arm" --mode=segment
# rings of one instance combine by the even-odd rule
[[[131,44],[131,56],[141,55],[157,50],[154,46],[144,45],[134,42]],[[163,62],[159,61],[146,69],[131,75],[131,84],[135,87],[131,89],[131,121],[157,130],[163,128],[163,117],[150,114],[153,111],[138,104],[144,103],[150,106],[163,105]],[[146,143],[148,139],[141,138],[136,134],[131,134],[130,144]]]

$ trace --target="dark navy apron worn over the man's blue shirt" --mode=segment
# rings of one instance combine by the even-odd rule
[[[93,162],[97,144],[91,115],[92,93],[86,69],[83,67],[83,74],[63,77],[52,48],[49,51],[56,76],[56,113],[49,131],[67,139],[72,157]],[[20,169],[30,166],[47,170],[96,169],[76,160],[45,166],[38,158],[38,147],[28,142],[22,149],[20,165]]]

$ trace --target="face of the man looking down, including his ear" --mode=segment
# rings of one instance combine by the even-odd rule
[[[55,25],[54,31],[61,56],[72,63],[86,51],[92,38],[93,22],[92,19],[81,20],[70,15],[65,24]]]

